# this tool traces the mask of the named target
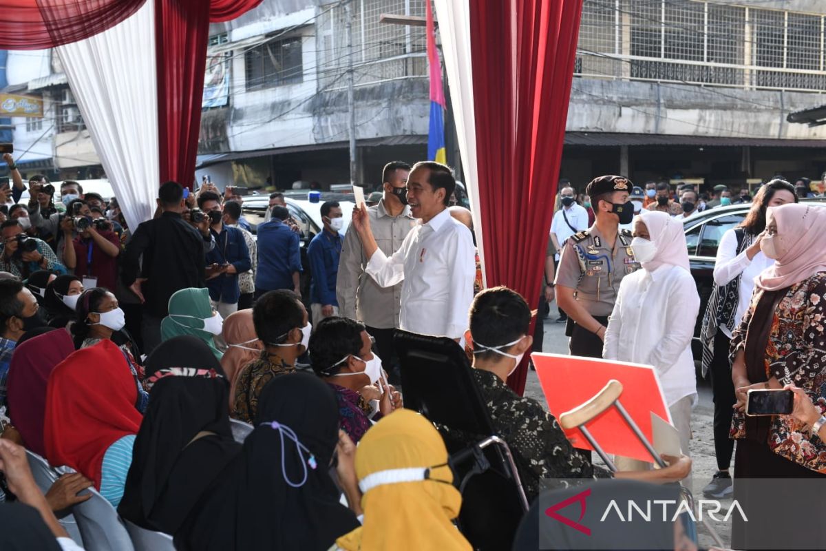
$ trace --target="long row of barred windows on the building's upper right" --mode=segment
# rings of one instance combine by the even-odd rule
[[[824,23],[705,0],[584,0],[577,74],[823,92]]]

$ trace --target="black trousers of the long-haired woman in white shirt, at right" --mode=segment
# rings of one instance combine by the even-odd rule
[[[729,337],[718,329],[717,335],[714,335],[714,358],[709,366],[714,399],[714,455],[717,456],[719,471],[729,468],[734,451],[734,440],[729,438],[729,430],[737,397],[734,396],[734,383],[731,380],[730,343]]]

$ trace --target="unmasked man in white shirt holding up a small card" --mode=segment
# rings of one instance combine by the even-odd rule
[[[365,207],[353,211],[353,227],[368,259],[366,272],[382,287],[404,281],[399,328],[459,340],[468,328],[476,260],[467,227],[447,209],[456,188],[449,167],[425,161],[407,179],[407,202],[420,220],[389,258],[378,248]]]

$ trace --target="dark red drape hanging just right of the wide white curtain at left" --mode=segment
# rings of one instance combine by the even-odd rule
[[[192,187],[201,127],[210,22],[228,21],[261,0],[156,0],[160,181]],[[205,9],[209,6],[209,9]]]

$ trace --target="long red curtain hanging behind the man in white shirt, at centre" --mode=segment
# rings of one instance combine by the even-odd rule
[[[487,286],[511,287],[534,308],[553,216],[582,0],[473,0],[470,7]],[[520,394],[527,366],[526,358],[508,379]]]

